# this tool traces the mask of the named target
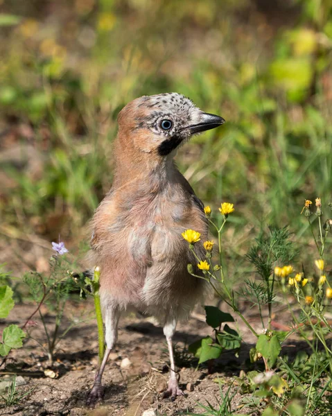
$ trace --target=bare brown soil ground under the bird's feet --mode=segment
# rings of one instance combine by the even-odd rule
[[[62,322],[63,328],[69,324],[70,315],[79,315],[80,304],[70,304]],[[85,309],[87,308],[85,304]],[[90,306],[88,307],[88,309]],[[6,324],[21,324],[33,312],[33,305],[16,305]],[[46,309],[46,321],[51,328],[54,317]],[[175,335],[177,351],[177,365],[179,366],[180,387],[184,390],[184,397],[177,397],[175,401],[163,399],[162,391],[168,380],[168,353],[161,327],[152,318],[142,318],[128,315],[121,318],[119,324],[119,342],[116,350],[111,354],[103,377],[105,395],[102,403],[96,408],[87,408],[85,400],[94,380],[94,372],[98,364],[97,330],[94,319],[80,323],[71,329],[60,342],[55,354],[55,363],[50,370],[47,356],[43,348],[35,340],[45,341],[41,322],[36,318],[37,326],[33,327],[31,336],[26,340],[24,348],[13,350],[3,372],[17,372],[23,376],[25,385],[17,388],[19,394],[30,393],[19,404],[0,409],[0,415],[17,416],[141,416],[144,410],[155,410],[156,415],[177,415],[179,413],[204,413],[198,402],[212,405],[218,404],[220,387],[217,377],[222,381],[222,390],[227,391],[245,367],[248,352],[254,342],[246,327],[241,325],[241,331],[246,343],[241,347],[238,357],[234,352],[223,354],[218,361],[200,367],[191,354],[184,353],[184,346],[209,334],[209,327],[202,322],[204,315],[193,314],[186,323],[180,323]],[[246,311],[246,316],[250,310]],[[250,322],[259,328],[259,321],[254,315]],[[295,347],[295,346],[294,346]],[[290,348],[292,348],[290,346]],[[296,349],[296,348],[295,348]],[[121,368],[124,358],[129,358],[131,365]],[[46,370],[46,373],[45,373]],[[49,375],[49,376],[46,376]],[[10,374],[8,374],[8,377]],[[55,378],[52,378],[55,376]],[[6,379],[6,374],[3,375]],[[232,410],[245,413],[241,409],[241,399],[236,383],[231,387]],[[3,392],[2,392],[3,394]],[[200,410],[200,411],[199,411]]]

